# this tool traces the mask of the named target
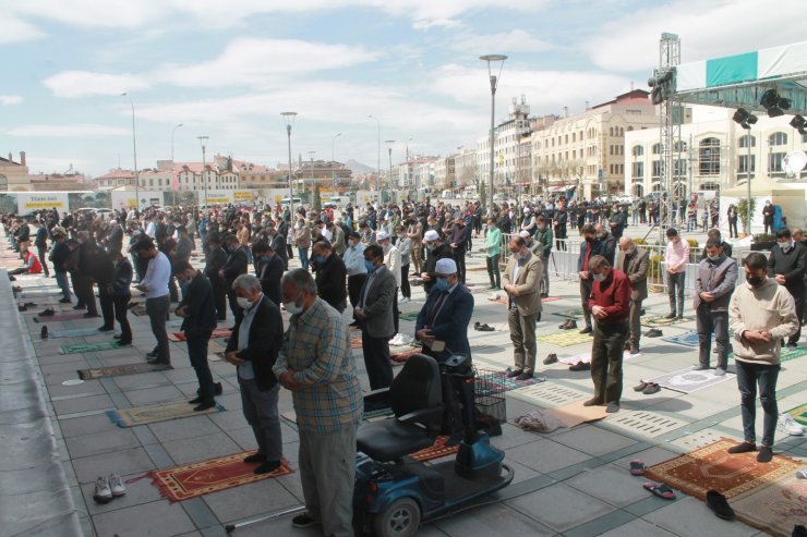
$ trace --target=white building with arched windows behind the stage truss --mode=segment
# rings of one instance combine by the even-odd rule
[[[764,113],[757,114],[758,122],[749,132],[732,119],[734,111],[707,106],[687,109],[673,156],[676,197],[744,183],[748,176],[749,149],[751,180],[761,171],[776,181],[800,183],[798,186],[804,187],[807,171],[787,178],[783,163],[788,152],[807,150],[807,134],[799,134],[788,124],[790,115],[768,118]],[[625,147],[625,192],[645,196],[664,191],[659,125],[626,133]]]

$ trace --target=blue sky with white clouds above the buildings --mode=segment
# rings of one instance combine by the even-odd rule
[[[509,2],[513,4],[513,2]],[[662,32],[696,61],[804,39],[807,2],[782,0],[0,0],[0,155],[32,172],[100,175],[137,163],[292,154],[382,168],[410,150],[474,147],[490,122],[483,53],[509,56],[496,118],[526,95],[570,113],[645,88]]]

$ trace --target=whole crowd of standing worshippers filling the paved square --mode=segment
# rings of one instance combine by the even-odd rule
[[[514,359],[508,376],[528,380],[537,370],[535,325],[542,298],[550,293],[552,251],[566,249],[568,228],[577,228],[583,239],[577,263],[585,322],[580,331],[592,335],[588,367],[593,396],[586,404],[618,412],[623,353],[640,352],[640,316],[648,296],[648,252],[624,236],[628,209],[574,202],[567,206],[564,198],[520,206],[502,203],[490,215],[479,202],[348,205],[342,210],[300,206],[293,211],[281,205],[119,209],[107,218],[53,209],[29,218],[5,216],[3,225],[24,260],[15,272],[47,277],[52,269],[60,302],[72,304],[74,294],[75,309],[103,318],[101,332],[112,332],[118,322],[119,345],[131,345],[136,337],[128,312],[132,290],[141,292],[156,340],[145,356],[149,364],[171,366],[166,321],[171,312],[182,318],[198,381],[197,398],[191,401],[194,410],[215,405],[207,346],[213,330],[227,322],[232,331],[225,358],[237,368],[243,414],[258,446],[246,462],[256,464],[256,473],[281,464],[277,404],[280,387],[290,390],[308,508],[293,524],[322,524],[326,535],[350,535],[356,432],[362,414],[351,328],[361,331],[370,388],[389,387],[389,344],[401,338],[398,305],[411,300],[412,285],[422,285],[425,303],[411,334],[422,352],[438,362],[454,353],[470,355],[474,301],[465,285],[466,257],[475,242],[485,257],[490,289],[506,295]],[[658,220],[658,210],[639,205],[634,221]],[[711,230],[691,306],[700,341],[695,368],[710,367],[712,333],[718,344],[715,375],[725,374],[730,347],[737,363],[745,441],[735,452],[757,449],[759,388],[766,413],[758,455],[762,462],[770,461],[779,418],[780,342],[797,344],[807,289],[802,232],[781,229],[776,234],[779,244],[770,257],[751,254],[743,260],[746,284],[736,286],[731,246]],[[684,316],[685,268],[692,259],[674,228],[666,236],[669,317],[674,320]],[[38,256],[31,251],[32,237]],[[196,246],[202,259],[192,259]],[[294,255],[300,268],[290,269]],[[290,314],[288,327],[281,310]],[[577,327],[567,321],[562,328]],[[552,363],[552,356],[544,364]],[[459,442],[459,403],[445,388],[443,430],[449,442]]]

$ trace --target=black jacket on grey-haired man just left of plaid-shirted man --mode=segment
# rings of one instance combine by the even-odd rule
[[[280,308],[265,295],[253,307],[258,308],[250,326],[250,338],[246,349],[238,352],[238,357],[252,363],[255,371],[255,381],[261,391],[269,390],[277,383],[272,367],[277,361],[277,354],[284,342],[284,321]],[[242,320],[236,324],[234,330],[227,342],[226,352],[238,350],[238,332]]]

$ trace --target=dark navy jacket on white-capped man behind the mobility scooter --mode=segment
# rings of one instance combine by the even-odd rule
[[[429,293],[426,303],[418,314],[418,320],[414,324],[415,333],[425,326],[439,294],[439,291],[436,290]],[[470,356],[471,345],[468,342],[468,325],[471,324],[472,315],[473,295],[460,283],[445,300],[433,326],[430,327],[432,335],[437,341],[445,342],[445,350],[433,353],[424,346],[424,354],[433,356],[437,362],[448,359],[451,354],[467,354]]]

